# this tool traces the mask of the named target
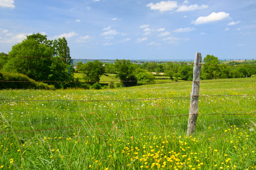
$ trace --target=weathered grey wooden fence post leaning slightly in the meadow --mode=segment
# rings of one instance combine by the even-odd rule
[[[190,109],[188,117],[188,129],[187,137],[190,134],[195,133],[196,130],[196,119],[198,114],[198,99],[199,99],[199,87],[200,87],[200,73],[201,73],[201,53],[196,53],[194,68],[193,68],[193,83],[190,99]]]

